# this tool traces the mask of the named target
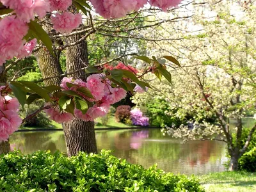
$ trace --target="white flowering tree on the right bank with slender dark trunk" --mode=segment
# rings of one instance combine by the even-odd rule
[[[229,3],[223,1],[207,19],[193,17],[194,29],[198,31],[189,33],[191,26],[186,26],[179,33],[170,32],[182,40],[164,44],[162,50],[170,50],[180,57],[182,67],[173,70],[171,66],[172,85],[153,81],[160,92],[149,90],[147,95],[136,95],[134,102],[147,102],[154,95],[165,99],[170,109],[177,109],[175,113],[166,111],[169,115],[184,118],[188,113],[193,114],[189,119],[193,128],[181,125],[167,127],[165,131],[185,141],[224,141],[230,155],[229,170],[237,170],[238,159],[246,152],[256,129],[255,125],[242,145],[242,119],[247,111],[255,112],[256,103],[256,10],[250,3]],[[235,8],[239,15],[230,15]],[[204,121],[207,116],[215,116],[216,122]],[[230,118],[236,120],[236,129],[230,128]]]

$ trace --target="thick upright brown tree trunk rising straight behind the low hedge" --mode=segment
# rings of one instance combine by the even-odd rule
[[[81,38],[80,35],[68,38],[70,42],[76,42]],[[80,44],[68,47],[66,51],[67,57],[67,73],[74,72],[88,65],[88,49],[87,42],[83,41]],[[86,80],[84,70],[72,74],[74,79]],[[68,156],[75,156],[77,152],[97,152],[94,122],[84,122],[75,118],[69,124],[64,124],[65,141],[67,144]]]

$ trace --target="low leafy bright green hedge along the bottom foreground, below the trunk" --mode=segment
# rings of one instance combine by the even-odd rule
[[[185,175],[144,169],[110,155],[109,151],[65,157],[38,151],[25,156],[0,156],[0,191],[204,191]]]

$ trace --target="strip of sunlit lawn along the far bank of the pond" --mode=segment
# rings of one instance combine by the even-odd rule
[[[99,128],[129,128],[129,127],[138,127],[135,125],[125,125],[122,124],[120,122],[116,122],[115,120],[115,116],[111,115],[109,117],[109,121],[107,125],[102,125],[101,124],[101,120],[100,118],[96,119],[95,122],[97,122],[97,124],[95,125],[95,129],[99,129]],[[22,127],[20,129],[25,129],[25,130],[32,130],[32,129],[62,129],[61,124],[57,124],[56,122],[51,122],[51,125],[47,126],[47,127]]]

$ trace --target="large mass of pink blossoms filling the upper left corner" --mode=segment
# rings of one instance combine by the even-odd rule
[[[29,56],[36,46],[36,40],[26,43],[24,36],[28,33],[28,23],[35,19],[35,14],[44,17],[50,10],[67,10],[72,0],[0,0],[15,15],[0,19],[0,66],[13,57],[20,59]],[[56,31],[70,33],[82,22],[81,14],[63,12],[55,13],[52,23]]]

